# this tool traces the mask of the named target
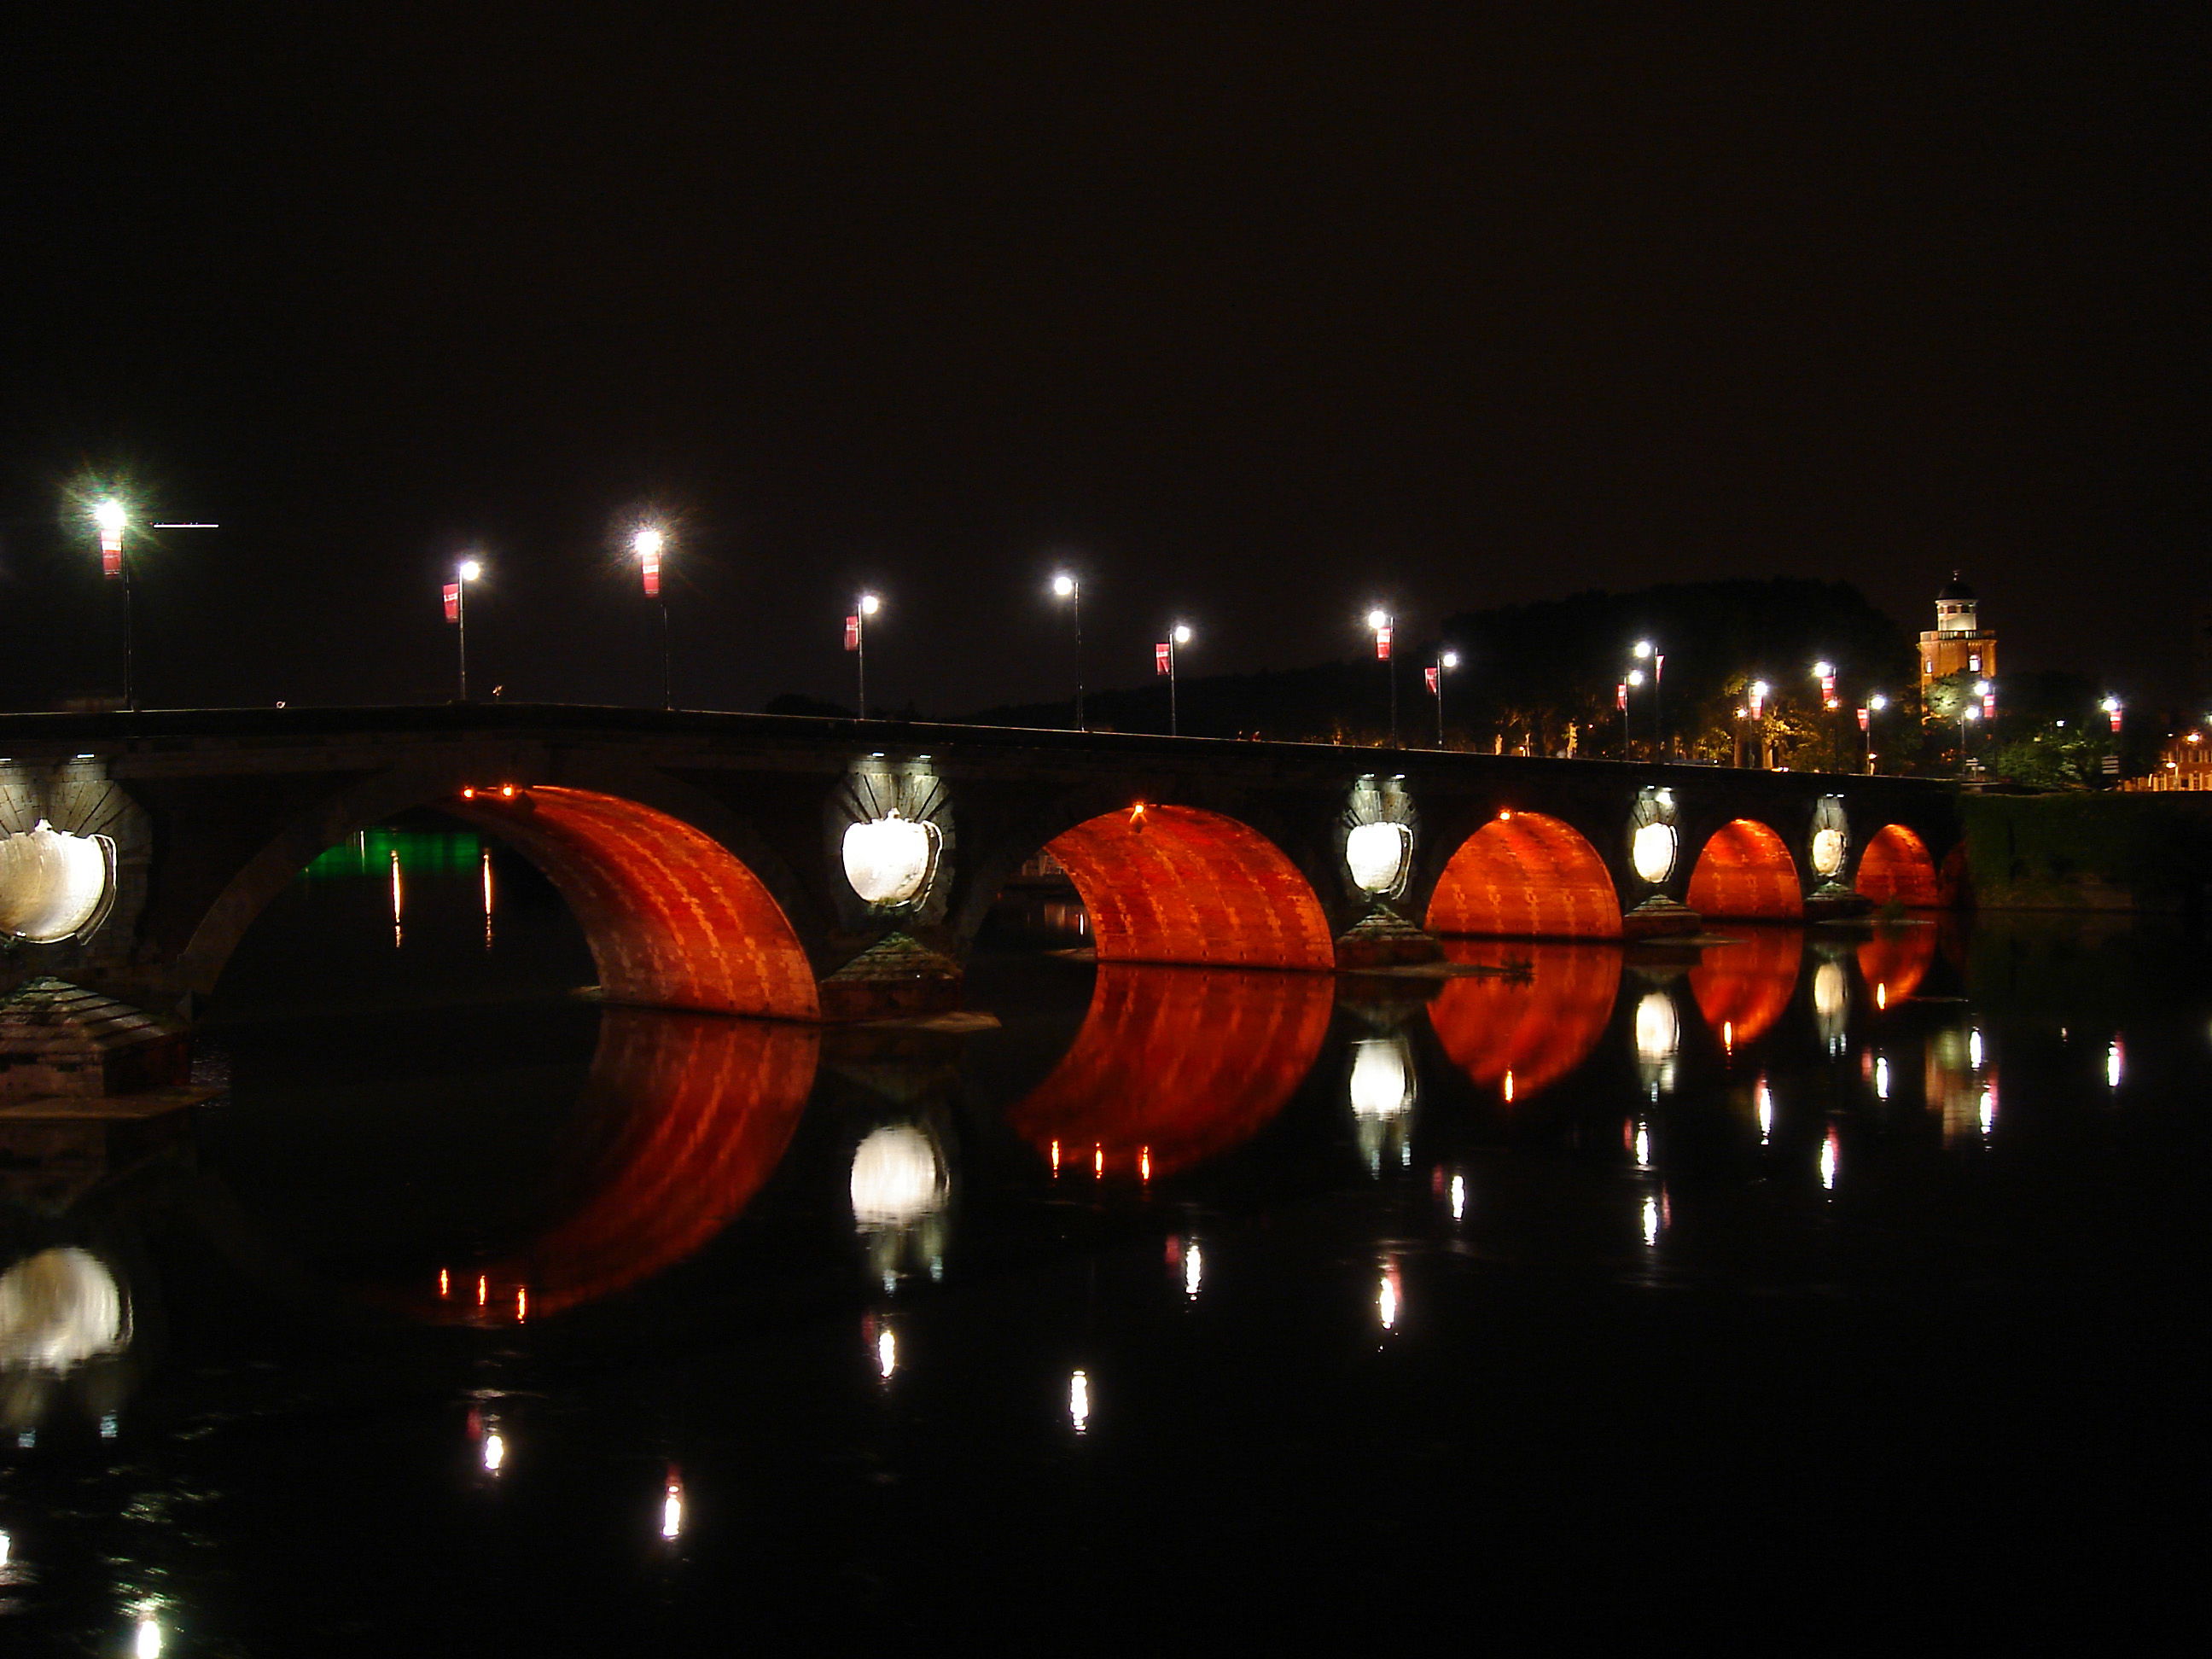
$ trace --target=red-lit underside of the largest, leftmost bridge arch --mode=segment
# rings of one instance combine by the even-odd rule
[[[449,807],[520,849],[584,927],[608,1002],[818,1020],[814,969],[761,878],[666,812],[586,790]]]

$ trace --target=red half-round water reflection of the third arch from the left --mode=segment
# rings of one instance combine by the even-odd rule
[[[1453,962],[1511,967],[1526,975],[1453,978],[1429,1004],[1436,1037],[1475,1084],[1506,1086],[1524,1099],[1579,1066],[1613,1018],[1621,953],[1604,945],[1506,945],[1449,940]]]

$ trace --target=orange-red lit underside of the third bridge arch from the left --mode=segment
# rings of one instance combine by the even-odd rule
[[[1582,832],[1542,812],[1471,834],[1429,898],[1431,933],[1619,938],[1621,900]]]

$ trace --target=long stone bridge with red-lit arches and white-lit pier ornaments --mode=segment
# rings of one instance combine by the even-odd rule
[[[1099,960],[1332,971],[1933,907],[1960,836],[1949,785],[1856,774],[500,703],[9,714],[0,991],[190,1018],[285,883],[416,807],[542,867],[608,1000],[790,1020],[945,1006],[1046,849]]]

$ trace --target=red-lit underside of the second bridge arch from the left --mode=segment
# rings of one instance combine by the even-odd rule
[[[1334,969],[1321,900],[1283,849],[1219,812],[1148,805],[1055,836],[1099,962]]]

